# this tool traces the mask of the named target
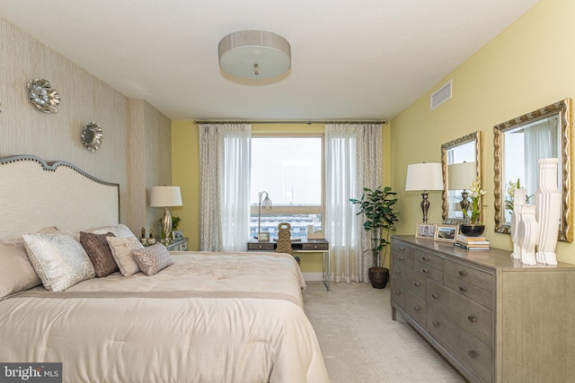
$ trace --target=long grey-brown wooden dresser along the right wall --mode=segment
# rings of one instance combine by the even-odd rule
[[[391,306],[472,382],[575,381],[575,265],[394,236]]]

